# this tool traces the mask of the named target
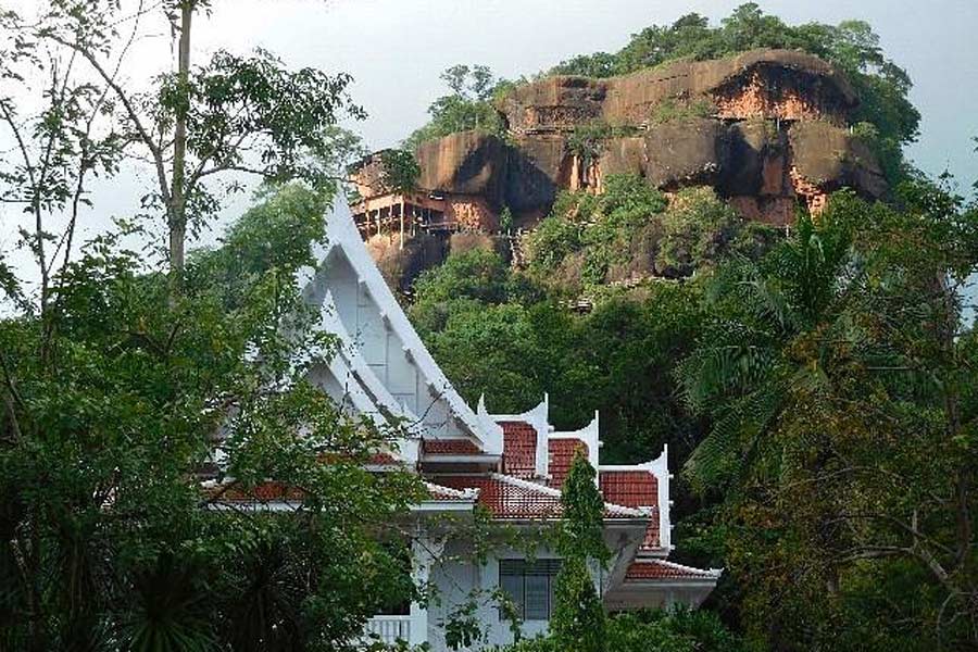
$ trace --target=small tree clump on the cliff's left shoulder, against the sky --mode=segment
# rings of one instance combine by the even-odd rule
[[[509,83],[496,79],[484,65],[453,65],[441,74],[442,82],[452,90],[428,106],[431,120],[415,129],[402,143],[409,151],[427,140],[442,138],[457,131],[476,129],[505,136],[505,124],[493,106],[493,98],[504,93]]]

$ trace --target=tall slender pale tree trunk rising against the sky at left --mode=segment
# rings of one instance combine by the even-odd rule
[[[170,222],[170,272],[175,284],[184,274],[184,247],[187,238],[187,197],[184,183],[187,168],[187,111],[190,84],[190,23],[193,17],[193,0],[180,3],[180,41],[177,62],[177,84],[180,88],[180,105],[176,109],[173,137],[173,177],[167,205]]]

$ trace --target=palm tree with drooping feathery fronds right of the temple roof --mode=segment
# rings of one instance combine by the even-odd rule
[[[689,405],[713,424],[686,464],[695,486],[740,476],[769,443],[792,389],[826,387],[824,334],[847,327],[853,265],[848,228],[830,215],[818,224],[802,216],[760,262],[737,259],[710,281],[714,316],[678,372]]]

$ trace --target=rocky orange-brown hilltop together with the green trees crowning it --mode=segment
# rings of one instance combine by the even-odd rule
[[[861,22],[792,26],[745,4],[719,26],[690,14],[639,32],[619,52],[577,57],[534,78],[499,80],[479,65],[452,66],[442,78],[451,93],[404,147],[416,156],[412,184],[437,197],[421,203],[450,229],[534,230],[565,213],[562,193],[602,195],[625,176],[666,197],[709,189],[735,222],[783,226],[841,188],[892,200],[915,174],[901,150],[919,123],[910,78]],[[384,163],[356,171],[367,199],[391,190],[380,183]],[[354,209],[377,222],[377,236],[384,211],[371,201]],[[625,280],[623,265],[631,277],[690,271],[656,262],[656,240],[607,280]],[[397,248],[386,242],[372,242],[376,258],[409,289],[418,271],[472,239],[412,230],[406,243],[401,234]]]

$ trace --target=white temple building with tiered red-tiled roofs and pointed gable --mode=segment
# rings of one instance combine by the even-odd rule
[[[410,199],[400,204],[400,215],[405,206],[435,215],[430,204]],[[404,605],[401,613],[378,614],[367,634],[388,643],[427,643],[441,652],[448,649],[444,624],[450,615],[480,597],[476,616],[485,630],[482,644],[510,643],[511,624],[489,599],[498,589],[515,603],[525,636],[544,631],[559,555],[543,544],[528,554],[503,541],[488,555],[474,555],[472,542],[446,518],[471,522],[481,507],[492,521],[531,535],[560,518],[561,487],[578,451],[598,469],[605,501],[605,541],[613,556],[605,568],[594,568],[593,579],[607,610],[700,604],[720,570],[668,560],[667,451],[643,464],[602,465],[598,414],[580,429],[559,431],[549,422],[547,397],[521,414],[491,414],[485,400],[469,405],[408,321],[367,252],[363,228],[346,205],[338,205],[328,217],[319,266],[309,272],[305,297],[319,309],[322,328],[341,341],[340,352],[316,368],[312,379],[351,411],[408,424],[403,440],[378,456],[375,469],[408,469],[425,481],[428,499],[411,514],[412,573],[438,595]]]

